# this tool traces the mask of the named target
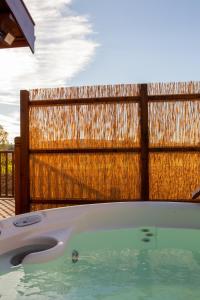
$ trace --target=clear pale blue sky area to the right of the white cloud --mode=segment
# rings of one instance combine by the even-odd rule
[[[75,0],[100,44],[94,61],[71,83],[199,79],[200,1]]]

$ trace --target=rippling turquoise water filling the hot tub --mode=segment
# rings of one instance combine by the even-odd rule
[[[199,300],[200,230],[146,229],[74,236],[63,257],[0,273],[0,299]]]

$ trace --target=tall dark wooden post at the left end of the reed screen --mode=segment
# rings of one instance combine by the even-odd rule
[[[21,202],[22,212],[30,211],[29,186],[29,92],[20,92],[21,124]]]

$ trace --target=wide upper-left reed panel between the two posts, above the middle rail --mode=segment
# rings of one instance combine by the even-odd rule
[[[138,147],[138,103],[30,107],[30,149]]]

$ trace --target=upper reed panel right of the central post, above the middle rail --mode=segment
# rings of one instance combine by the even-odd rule
[[[152,102],[148,110],[150,147],[200,145],[200,100]]]

